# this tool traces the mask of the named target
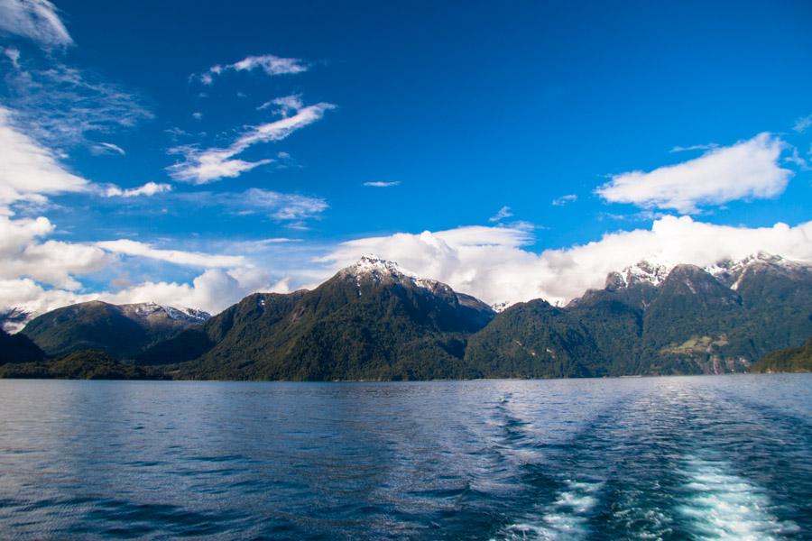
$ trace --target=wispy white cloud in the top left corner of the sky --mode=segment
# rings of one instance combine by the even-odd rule
[[[56,7],[48,0],[0,1],[0,30],[38,41],[46,47],[73,43]]]

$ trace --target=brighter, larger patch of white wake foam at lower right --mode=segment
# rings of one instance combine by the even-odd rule
[[[771,513],[760,487],[730,472],[726,463],[689,458],[684,473],[692,495],[678,512],[691,520],[698,539],[777,541],[798,532],[798,525]]]

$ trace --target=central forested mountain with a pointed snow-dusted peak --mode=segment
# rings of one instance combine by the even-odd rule
[[[466,338],[494,311],[447,285],[364,258],[317,289],[254,295],[204,327],[189,377],[416,380],[464,377]]]

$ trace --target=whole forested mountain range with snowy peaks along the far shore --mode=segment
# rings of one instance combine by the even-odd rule
[[[809,336],[812,267],[765,253],[706,268],[641,261],[566,307],[537,299],[498,313],[364,257],[316,289],[255,293],[213,317],[154,304],[59,308],[5,335],[0,353],[17,354],[6,353],[14,338],[14,351],[24,340],[49,358],[97,350],[142,376],[184,379],[555,378],[746,371]]]

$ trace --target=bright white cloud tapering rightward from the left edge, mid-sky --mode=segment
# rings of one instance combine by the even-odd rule
[[[0,208],[17,201],[87,191],[90,183],[65,170],[50,150],[20,132],[12,113],[0,106]]]

